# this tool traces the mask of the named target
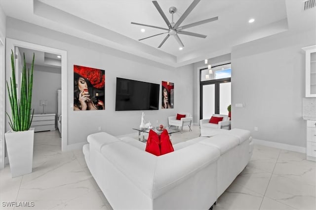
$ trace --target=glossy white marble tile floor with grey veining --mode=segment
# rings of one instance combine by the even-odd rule
[[[198,137],[198,126],[192,129],[173,134],[173,144]],[[3,202],[34,202],[34,207],[7,207]],[[82,151],[61,152],[59,132],[51,131],[35,133],[33,173],[12,179],[8,165],[0,171],[0,210],[22,209],[112,210],[112,207],[92,178]],[[315,209],[316,162],[306,160],[304,153],[259,145],[254,146],[249,164],[213,208]]]

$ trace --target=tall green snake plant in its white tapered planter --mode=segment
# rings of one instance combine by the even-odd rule
[[[11,106],[11,116],[6,112],[9,119],[9,125],[12,130],[6,132],[5,143],[11,169],[11,176],[18,177],[24,174],[32,173],[33,166],[33,145],[34,128],[30,128],[33,119],[31,111],[32,90],[33,90],[33,69],[35,54],[31,70],[26,70],[25,55],[22,68],[22,81],[20,88],[21,95],[17,95],[15,80],[14,54],[11,50],[12,77],[10,84],[6,81],[8,98]]]

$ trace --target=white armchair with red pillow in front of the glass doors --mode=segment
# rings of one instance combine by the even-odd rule
[[[231,129],[231,120],[228,115],[218,115],[214,114],[212,117],[223,118],[222,121],[219,121],[218,124],[210,123],[210,119],[199,120],[199,126],[201,129],[201,136],[214,136],[219,133],[225,132],[224,130]]]

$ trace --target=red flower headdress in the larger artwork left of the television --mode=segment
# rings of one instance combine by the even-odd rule
[[[89,80],[94,88],[101,89],[104,87],[105,75],[102,74],[102,70],[74,65],[74,72],[79,74],[84,79]]]

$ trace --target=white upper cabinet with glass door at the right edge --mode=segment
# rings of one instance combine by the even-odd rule
[[[316,45],[304,47],[305,97],[316,97]]]

